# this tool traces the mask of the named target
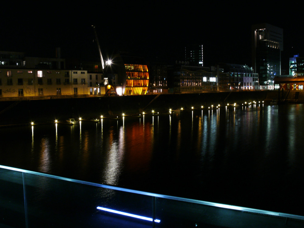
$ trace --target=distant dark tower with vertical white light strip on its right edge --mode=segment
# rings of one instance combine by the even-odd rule
[[[203,61],[203,45],[189,44],[185,47],[185,60],[189,62],[190,66],[204,66]]]

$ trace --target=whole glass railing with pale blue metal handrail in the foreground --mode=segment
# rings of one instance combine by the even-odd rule
[[[0,227],[303,227],[304,216],[0,165]]]

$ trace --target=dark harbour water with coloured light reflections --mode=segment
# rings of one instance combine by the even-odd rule
[[[0,164],[304,215],[303,114],[251,105],[0,129]]]

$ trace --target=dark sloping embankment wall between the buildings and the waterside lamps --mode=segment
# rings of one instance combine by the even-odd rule
[[[284,91],[281,99],[304,102],[304,92]],[[119,97],[62,98],[47,100],[22,100],[0,102],[0,125],[43,123],[68,118],[90,119],[117,116],[121,113],[135,114],[142,111],[165,112],[168,109],[200,108],[201,105],[224,105],[253,100],[270,102],[278,99],[278,91],[203,92],[192,94],[132,95]]]

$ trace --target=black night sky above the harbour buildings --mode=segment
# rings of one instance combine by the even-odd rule
[[[61,47],[62,58],[99,61],[94,24],[104,55],[127,51],[171,64],[184,60],[187,43],[202,43],[206,66],[218,62],[251,66],[251,25],[266,22],[283,28],[282,69],[287,69],[289,57],[304,56],[302,16],[297,12],[301,7],[271,4],[112,1],[40,10],[33,6],[28,12],[8,10],[0,25],[0,50],[54,57],[55,48]]]

